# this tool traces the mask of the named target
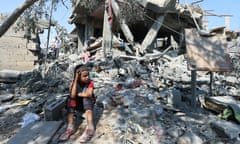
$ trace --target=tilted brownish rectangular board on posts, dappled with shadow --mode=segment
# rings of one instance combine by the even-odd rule
[[[196,29],[185,29],[188,68],[196,71],[232,71],[224,36],[203,37]]]

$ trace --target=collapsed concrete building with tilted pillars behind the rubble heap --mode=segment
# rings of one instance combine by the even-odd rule
[[[109,41],[117,38],[130,45],[132,55],[174,44],[182,53],[184,29],[202,29],[201,8],[184,7],[176,0],[74,0],[72,9],[68,22],[76,25],[80,52],[90,37],[103,37],[105,52],[112,47]]]

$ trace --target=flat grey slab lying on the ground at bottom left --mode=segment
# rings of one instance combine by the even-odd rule
[[[47,144],[60,128],[62,121],[31,123],[10,139],[7,144]]]

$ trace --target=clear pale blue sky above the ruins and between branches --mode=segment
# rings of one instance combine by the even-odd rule
[[[9,2],[14,1],[14,2]],[[25,0],[0,0],[0,13],[11,13],[21,5]],[[70,2],[70,0],[64,0]],[[197,0],[179,0],[181,4],[190,4]],[[210,11],[218,15],[231,15],[230,30],[240,30],[240,0],[203,0],[197,3],[203,10]],[[74,25],[68,24],[67,20],[71,16],[71,4],[68,9],[60,5],[56,12],[53,12],[53,18],[64,26],[68,32],[74,28]],[[225,17],[207,16],[208,29],[225,26]],[[54,37],[55,32],[51,31],[50,37]]]

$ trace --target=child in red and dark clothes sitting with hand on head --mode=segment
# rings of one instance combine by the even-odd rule
[[[93,106],[95,97],[93,93],[94,83],[89,78],[89,70],[84,65],[76,66],[74,70],[74,80],[71,84],[70,97],[67,100],[68,126],[66,131],[60,136],[60,141],[68,140],[74,134],[74,112],[85,110],[87,126],[77,142],[87,142],[94,135]]]

